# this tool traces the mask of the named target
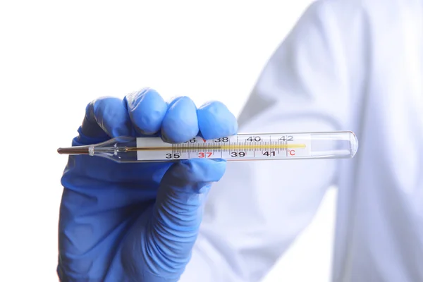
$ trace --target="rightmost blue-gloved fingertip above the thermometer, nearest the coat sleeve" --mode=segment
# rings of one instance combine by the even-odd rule
[[[238,131],[235,116],[221,102],[208,102],[197,110],[198,125],[204,139],[234,135]]]

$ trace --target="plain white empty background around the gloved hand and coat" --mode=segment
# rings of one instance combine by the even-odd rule
[[[57,281],[60,178],[92,99],[153,87],[239,114],[311,1],[1,1],[0,281]],[[119,4],[118,4],[119,3]],[[265,282],[329,281],[335,197]]]

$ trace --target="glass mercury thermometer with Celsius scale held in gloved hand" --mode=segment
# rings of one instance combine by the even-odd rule
[[[161,137],[116,137],[106,142],[59,148],[59,154],[85,154],[121,163],[226,159],[256,161],[281,159],[349,159],[358,149],[351,131],[317,133],[240,133],[205,140],[194,137],[168,143]]]

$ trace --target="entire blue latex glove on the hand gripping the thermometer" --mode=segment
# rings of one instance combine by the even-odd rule
[[[90,103],[73,145],[119,135],[185,142],[238,130],[219,102],[197,109],[188,97],[166,104],[154,90]],[[63,173],[59,221],[61,281],[178,281],[190,260],[211,183],[223,160],[117,164],[71,156]]]

